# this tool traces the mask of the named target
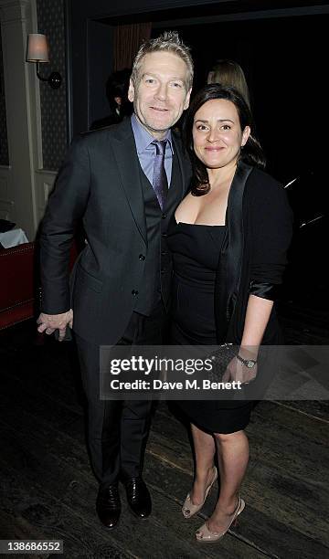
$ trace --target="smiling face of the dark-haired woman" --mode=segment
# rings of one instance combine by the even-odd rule
[[[196,111],[193,142],[196,156],[208,169],[236,163],[241,145],[249,138],[250,128],[241,131],[234,103],[225,99],[208,100]]]

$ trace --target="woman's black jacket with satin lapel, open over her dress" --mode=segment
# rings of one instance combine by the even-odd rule
[[[218,260],[215,316],[218,343],[240,343],[249,294],[274,301],[292,239],[292,210],[269,174],[239,162],[228,195],[227,234]],[[264,344],[281,342],[271,312]]]

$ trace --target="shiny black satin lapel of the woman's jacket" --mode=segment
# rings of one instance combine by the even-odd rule
[[[227,235],[219,258],[215,314],[218,343],[226,341],[228,323],[239,294],[243,256],[243,194],[252,167],[240,162],[228,195]]]

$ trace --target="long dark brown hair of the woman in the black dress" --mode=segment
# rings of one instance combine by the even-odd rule
[[[185,140],[185,145],[187,152],[190,156],[192,167],[193,167],[193,177],[191,192],[193,195],[201,196],[207,194],[210,189],[209,179],[207,174],[207,167],[205,163],[202,163],[197,157],[193,147],[193,124],[196,111],[202,107],[208,100],[225,99],[231,101],[239,114],[239,123],[241,130],[243,131],[246,126],[249,126],[252,130],[253,120],[252,115],[246,101],[243,99],[242,95],[233,87],[222,86],[218,83],[208,84],[202,90],[196,93],[196,96],[191,101],[189,109],[186,113],[186,120],[183,128],[183,135]],[[260,147],[260,142],[249,134],[248,141],[243,146],[239,153],[239,161],[248,163],[249,165],[255,165],[260,168],[265,167],[265,156]]]

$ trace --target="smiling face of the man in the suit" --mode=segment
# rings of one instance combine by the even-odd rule
[[[146,54],[136,87],[131,81],[128,97],[137,119],[154,138],[161,140],[188,107],[184,60],[171,52]]]

